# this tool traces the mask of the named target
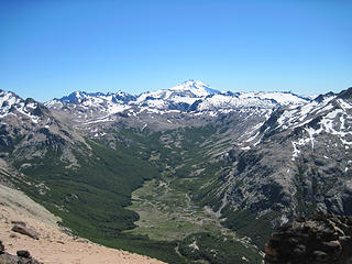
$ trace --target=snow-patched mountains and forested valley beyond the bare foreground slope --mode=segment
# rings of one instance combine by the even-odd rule
[[[352,88],[311,99],[189,80],[140,96],[76,91],[44,105],[1,91],[0,107],[1,182],[105,244],[169,263],[258,263],[277,224],[314,211],[352,215]],[[154,184],[142,187],[147,179]],[[146,193],[132,200],[138,188]],[[169,226],[147,226],[145,205]],[[209,222],[197,220],[205,216]],[[172,223],[188,231],[175,237]],[[161,239],[133,237],[157,230],[164,254]],[[251,250],[216,248],[229,238]]]

